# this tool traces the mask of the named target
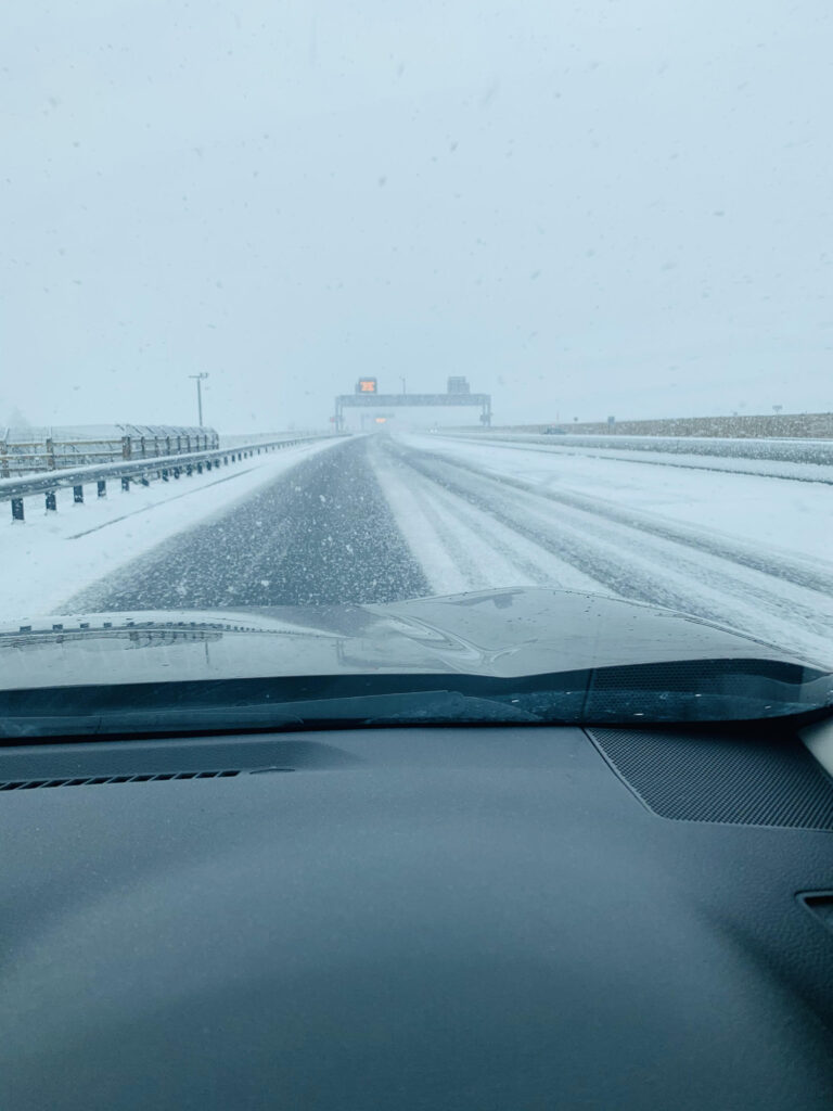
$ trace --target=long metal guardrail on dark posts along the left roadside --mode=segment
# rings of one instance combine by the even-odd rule
[[[58,510],[58,490],[72,489],[72,502],[83,504],[84,487],[96,486],[98,498],[107,497],[108,481],[118,480],[123,493],[131,484],[150,486],[151,481],[170,482],[192,474],[202,474],[219,467],[228,467],[253,456],[292,448],[313,440],[342,439],[343,433],[327,432],[318,436],[302,436],[294,439],[272,440],[268,443],[247,444],[240,448],[212,448],[187,454],[160,456],[133,459],[128,462],[92,464],[67,470],[54,470],[46,474],[29,474],[22,478],[0,479],[0,501],[11,502],[12,522],[23,520],[23,499],[42,493],[47,512]]]

